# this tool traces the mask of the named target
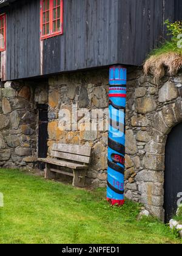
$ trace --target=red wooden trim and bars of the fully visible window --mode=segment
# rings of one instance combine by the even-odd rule
[[[41,40],[44,40],[46,38],[55,37],[56,35],[62,35],[63,34],[63,0],[60,0],[60,7],[61,7],[61,16],[60,16],[60,26],[61,30],[58,32],[53,32],[53,0],[50,0],[50,9],[49,9],[49,30],[50,34],[48,35],[42,35],[42,29],[43,29],[43,0],[41,0]]]

